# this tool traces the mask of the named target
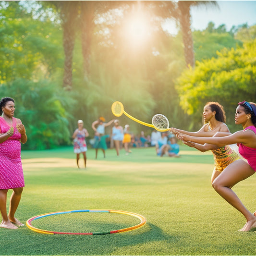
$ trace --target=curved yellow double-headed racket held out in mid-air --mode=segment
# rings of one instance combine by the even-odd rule
[[[133,121],[151,128],[155,128],[159,132],[169,131],[169,121],[167,117],[165,117],[162,114],[154,115],[152,118],[152,124],[150,124],[150,123],[142,122],[134,118],[133,116],[129,115],[127,112],[125,112],[125,110],[123,109],[122,102],[120,101],[115,101],[111,106],[111,110],[114,116],[120,117],[122,116],[122,114],[125,114],[127,117],[129,117]]]

